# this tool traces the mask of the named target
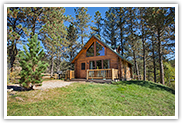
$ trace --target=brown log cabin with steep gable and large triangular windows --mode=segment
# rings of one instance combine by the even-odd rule
[[[74,78],[131,80],[133,64],[97,36],[92,35],[71,62]]]

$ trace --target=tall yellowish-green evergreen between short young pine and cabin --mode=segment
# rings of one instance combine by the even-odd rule
[[[53,76],[54,57],[58,53],[62,54],[66,50],[66,36],[67,30],[64,26],[64,21],[67,17],[64,15],[65,9],[62,7],[45,7],[44,18],[47,20],[46,24],[40,29],[42,42],[50,55],[50,74]]]

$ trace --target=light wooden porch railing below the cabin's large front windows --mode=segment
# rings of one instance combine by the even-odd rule
[[[88,69],[87,70],[87,80],[88,79],[116,79],[118,78],[118,69]]]

